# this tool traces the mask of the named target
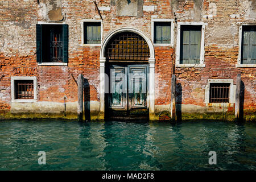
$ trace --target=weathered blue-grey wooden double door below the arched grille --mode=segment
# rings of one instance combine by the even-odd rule
[[[148,65],[109,65],[108,114],[138,117],[148,114]]]

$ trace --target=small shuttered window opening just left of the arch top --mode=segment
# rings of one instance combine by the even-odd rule
[[[84,22],[84,44],[101,44],[101,22]]]

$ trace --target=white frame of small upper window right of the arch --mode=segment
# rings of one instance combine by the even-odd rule
[[[171,42],[170,44],[154,43],[154,23],[155,22],[170,22],[171,26]],[[154,46],[174,46],[174,19],[151,19],[151,39]]]

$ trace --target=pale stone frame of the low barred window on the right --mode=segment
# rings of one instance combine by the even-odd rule
[[[218,83],[218,84],[230,84],[229,86],[229,103],[210,103],[210,84]],[[234,104],[235,96],[236,96],[236,85],[233,84],[233,79],[209,79],[207,85],[205,85],[205,104],[211,106],[228,106],[230,104]]]

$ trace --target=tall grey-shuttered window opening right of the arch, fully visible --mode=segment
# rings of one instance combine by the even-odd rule
[[[199,64],[201,26],[181,26],[180,64]]]

